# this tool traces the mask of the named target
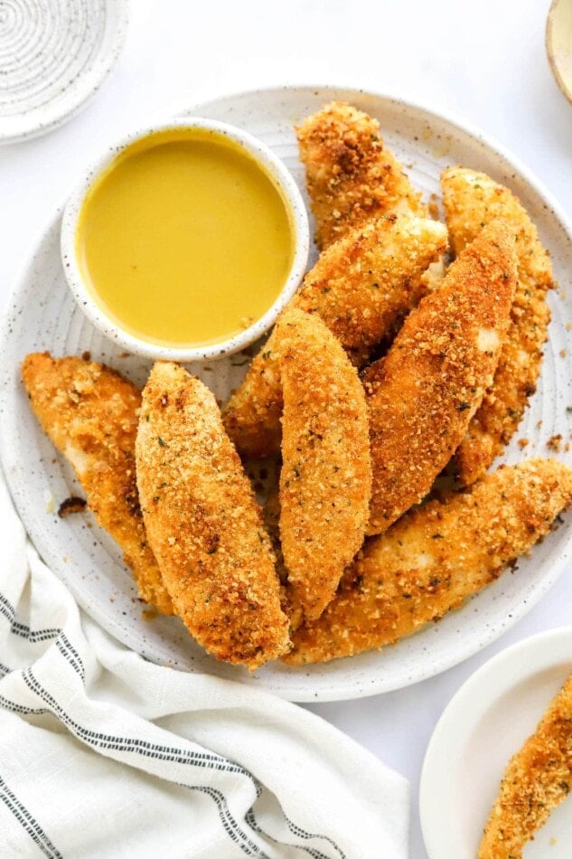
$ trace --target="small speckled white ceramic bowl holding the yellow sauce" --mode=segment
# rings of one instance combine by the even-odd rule
[[[131,146],[136,140],[147,137],[156,131],[164,131],[171,128],[201,128],[213,135],[223,135],[243,148],[250,156],[253,156],[262,169],[270,176],[277,185],[286,207],[290,210],[291,224],[294,238],[294,255],[286,282],[278,294],[274,304],[269,307],[263,316],[260,316],[251,326],[240,331],[239,334],[230,336],[227,340],[212,345],[201,346],[165,346],[155,345],[143,338],[127,333],[125,329],[117,325],[117,322],[105,313],[98,305],[85,282],[85,278],[78,264],[75,239],[78,227],[81,207],[85,196],[91,185],[108,168],[127,146]],[[89,321],[104,335],[115,341],[122,348],[135,354],[145,355],[154,360],[165,361],[214,361],[224,355],[239,352],[246,346],[258,340],[275,323],[277,316],[286,307],[290,298],[295,294],[305,274],[310,248],[310,229],[308,217],[305,210],[302,194],[295,184],[295,180],[277,156],[256,137],[242,131],[240,128],[217,122],[212,119],[189,118],[184,120],[174,119],[138,130],[136,133],[123,138],[112,146],[108,152],[101,156],[98,161],[89,167],[89,170],[76,186],[64,209],[61,222],[61,256],[63,269],[68,279],[73,297],[78,302]]]

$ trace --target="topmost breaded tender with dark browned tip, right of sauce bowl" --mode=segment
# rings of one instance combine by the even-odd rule
[[[319,250],[371,218],[427,214],[402,165],[384,146],[377,119],[333,101],[296,127],[296,135]]]

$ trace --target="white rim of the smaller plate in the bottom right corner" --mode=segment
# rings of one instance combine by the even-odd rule
[[[450,773],[450,764],[499,697],[514,684],[555,665],[561,656],[567,656],[572,663],[572,625],[544,629],[505,647],[469,675],[446,704],[427,743],[419,779],[418,813],[429,859],[442,859],[445,855],[434,849],[441,849],[438,839],[443,832],[433,814],[435,802],[439,801],[434,771]]]

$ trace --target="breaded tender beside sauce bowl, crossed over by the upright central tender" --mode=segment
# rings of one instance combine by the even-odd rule
[[[290,303],[321,316],[354,363],[370,353],[427,292],[427,267],[443,253],[445,226],[411,216],[379,218],[320,255]],[[230,438],[250,457],[280,446],[282,394],[275,337],[254,358],[223,410]]]

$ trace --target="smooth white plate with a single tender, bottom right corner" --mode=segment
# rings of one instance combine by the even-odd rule
[[[572,627],[551,629],[482,665],[447,705],[427,746],[419,811],[429,859],[474,859],[502,773],[572,672]],[[524,854],[572,856],[572,798]]]

